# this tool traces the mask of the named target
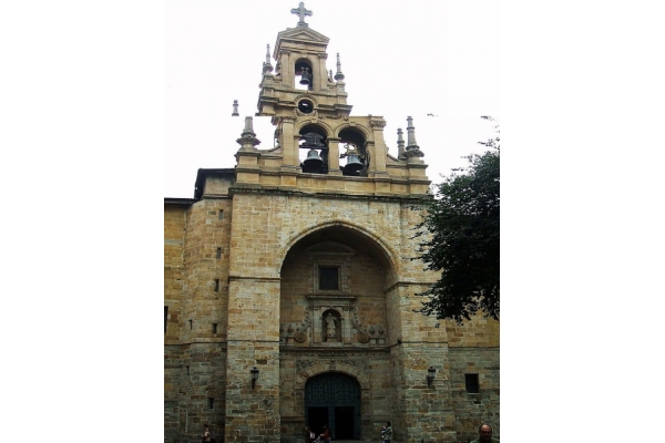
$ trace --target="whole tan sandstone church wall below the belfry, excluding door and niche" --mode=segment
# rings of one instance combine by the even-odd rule
[[[227,443],[299,442],[305,385],[327,371],[359,381],[364,440],[376,440],[386,420],[398,442],[466,441],[484,420],[499,434],[499,323],[478,318],[458,327],[413,312],[415,293],[436,275],[410,260],[420,220],[412,200],[232,195],[165,206],[165,441],[198,442],[209,423]],[[345,311],[344,321],[356,312],[368,342],[358,330],[335,349],[320,336],[314,343],[311,330],[304,341],[285,340],[285,326],[311,312],[309,248],[327,241],[319,233],[337,233],[332,243],[352,249],[344,291],[357,311]],[[437,374],[428,387],[430,365]],[[479,394],[466,392],[470,371]]]

